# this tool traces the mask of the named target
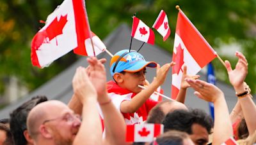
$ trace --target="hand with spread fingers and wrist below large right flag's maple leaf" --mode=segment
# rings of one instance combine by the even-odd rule
[[[190,86],[188,84],[188,82],[185,81],[185,78],[198,79],[200,76],[199,75],[188,75],[187,74],[187,66],[184,66],[183,70],[184,71],[183,71],[182,78],[181,78],[180,90],[179,90],[176,100],[178,102],[181,102],[184,104],[185,99],[186,99],[186,91],[187,91],[187,88]]]

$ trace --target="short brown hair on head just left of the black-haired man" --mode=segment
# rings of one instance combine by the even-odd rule
[[[153,107],[149,113],[147,118],[147,123],[162,123],[164,120],[165,114],[162,109],[162,104],[170,102],[170,101],[163,101],[159,102],[155,107]]]

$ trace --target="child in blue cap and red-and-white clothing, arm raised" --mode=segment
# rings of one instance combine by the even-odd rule
[[[110,62],[110,73],[115,81],[108,82],[108,94],[116,108],[121,111],[126,124],[143,123],[157,102],[149,99],[160,85],[174,62],[159,68],[156,62],[147,62],[143,56],[129,50],[117,52]],[[157,74],[145,90],[138,85],[145,85],[146,67],[157,67]]]

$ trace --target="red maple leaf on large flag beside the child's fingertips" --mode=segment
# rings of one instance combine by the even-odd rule
[[[176,47],[176,54],[173,53],[173,62],[176,64],[173,66],[173,74],[179,74],[180,71],[182,71],[181,67],[184,64],[184,50],[182,50],[181,45],[179,44],[178,47]]]

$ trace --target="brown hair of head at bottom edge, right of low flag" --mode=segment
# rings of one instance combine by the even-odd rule
[[[189,139],[189,135],[186,134],[186,132],[170,130],[159,135],[159,137],[156,138],[156,142],[159,145],[182,145],[184,139]]]

